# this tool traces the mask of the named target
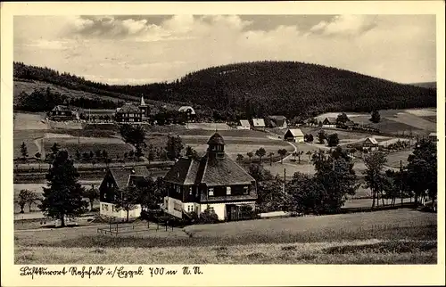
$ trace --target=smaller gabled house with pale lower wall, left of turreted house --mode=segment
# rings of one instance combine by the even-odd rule
[[[148,176],[150,176],[150,173],[145,167],[108,168],[99,186],[100,214],[108,217],[127,217],[127,211],[115,208],[116,196],[119,195],[118,192],[131,185],[144,188]],[[128,217],[139,217],[140,215],[141,205],[139,204],[136,205],[136,209],[132,209],[128,213]]]

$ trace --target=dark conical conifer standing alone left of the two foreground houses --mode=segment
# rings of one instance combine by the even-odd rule
[[[66,151],[57,152],[52,167],[46,175],[44,198],[39,209],[46,217],[61,220],[65,226],[65,217],[74,217],[87,210],[87,201],[83,200],[84,189],[78,183],[78,170]]]

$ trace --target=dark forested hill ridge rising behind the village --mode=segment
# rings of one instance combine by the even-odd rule
[[[40,68],[44,70],[43,68]],[[51,70],[50,70],[51,71]],[[55,71],[54,71],[55,72]],[[223,118],[283,114],[308,117],[325,111],[371,111],[436,106],[434,89],[403,85],[359,73],[292,61],[258,61],[212,67],[172,83],[111,86],[70,74],[14,63],[14,77],[57,81],[80,89],[128,94],[211,108]],[[77,87],[76,87],[77,86]]]

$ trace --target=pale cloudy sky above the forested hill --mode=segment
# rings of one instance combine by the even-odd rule
[[[243,61],[436,80],[434,15],[14,16],[14,61],[136,85]]]

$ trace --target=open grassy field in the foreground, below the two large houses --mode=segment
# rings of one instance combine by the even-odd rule
[[[191,225],[135,236],[95,227],[16,232],[16,264],[422,264],[436,262],[436,215],[397,209]]]

